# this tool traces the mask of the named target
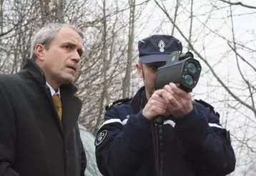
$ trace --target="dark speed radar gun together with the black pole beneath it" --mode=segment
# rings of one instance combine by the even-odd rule
[[[169,83],[175,83],[182,90],[192,92],[192,89],[197,86],[201,69],[200,62],[194,58],[192,53],[187,52],[183,54],[174,51],[169,55],[169,61],[164,66],[157,68],[154,88],[157,90],[164,88]],[[154,118],[152,137],[154,141],[154,158],[157,176],[162,176],[163,169],[163,123],[164,116]]]

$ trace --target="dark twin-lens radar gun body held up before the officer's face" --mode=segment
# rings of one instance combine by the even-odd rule
[[[179,53],[174,51],[169,56],[170,60],[157,69],[154,81],[155,90],[164,88],[169,83],[179,84],[179,88],[192,92],[197,86],[201,73],[200,62],[195,60],[192,53]]]

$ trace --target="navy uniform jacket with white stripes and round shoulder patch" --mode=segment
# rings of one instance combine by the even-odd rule
[[[97,165],[105,176],[154,175],[152,121],[142,115],[144,87],[107,109],[95,139]],[[163,125],[163,176],[224,176],[235,170],[230,135],[218,115],[201,103],[184,118]]]

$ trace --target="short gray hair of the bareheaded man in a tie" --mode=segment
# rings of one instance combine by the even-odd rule
[[[46,48],[49,47],[49,44],[51,43],[51,40],[56,36],[56,33],[62,28],[70,28],[76,31],[81,38],[84,38],[83,32],[78,29],[76,26],[72,26],[70,24],[60,24],[60,23],[54,23],[54,24],[46,24],[46,26],[43,26],[34,36],[34,38],[31,41],[31,49],[30,49],[30,58],[32,60],[35,60],[36,58],[36,45],[42,44],[45,45]]]

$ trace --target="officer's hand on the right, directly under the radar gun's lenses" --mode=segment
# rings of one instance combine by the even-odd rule
[[[167,105],[168,113],[175,118],[181,118],[193,110],[192,98],[190,93],[178,88],[174,83],[164,86],[162,97]]]

